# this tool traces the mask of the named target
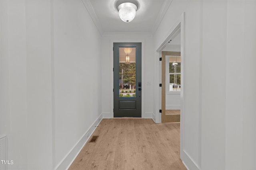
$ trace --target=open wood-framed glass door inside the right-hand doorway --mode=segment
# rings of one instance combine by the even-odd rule
[[[162,51],[161,55],[161,122],[180,122],[180,90],[182,89],[180,69],[182,61],[177,60],[180,58],[180,50]]]

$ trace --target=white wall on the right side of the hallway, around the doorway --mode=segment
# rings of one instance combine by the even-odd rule
[[[190,170],[256,168],[255,7],[255,1],[173,1],[154,35],[157,49],[185,12],[181,158]]]

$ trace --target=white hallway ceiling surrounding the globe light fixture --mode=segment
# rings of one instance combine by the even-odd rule
[[[138,5],[133,21],[119,18],[118,4],[134,2]],[[106,33],[154,34],[172,0],[82,0],[92,20],[102,35]]]

